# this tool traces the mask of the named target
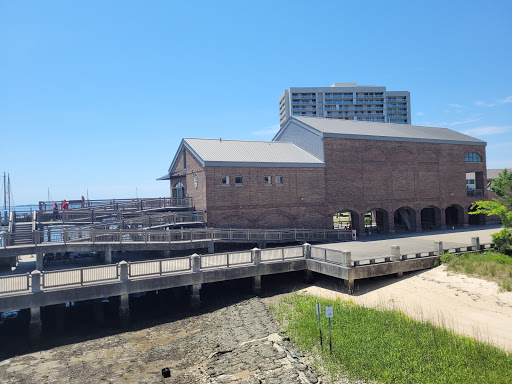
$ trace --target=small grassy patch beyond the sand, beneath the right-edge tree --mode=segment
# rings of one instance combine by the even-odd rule
[[[512,291],[512,257],[503,253],[487,251],[460,256],[445,253],[441,261],[449,271],[496,281],[502,290]]]

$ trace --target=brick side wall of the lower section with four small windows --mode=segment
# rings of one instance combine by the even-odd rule
[[[229,176],[230,185],[222,185]],[[243,185],[235,185],[242,176]],[[272,177],[272,185],[264,184]],[[276,185],[276,176],[283,184]],[[208,226],[295,228],[325,226],[323,168],[208,167]]]

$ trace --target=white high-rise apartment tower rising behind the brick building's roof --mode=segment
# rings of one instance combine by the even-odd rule
[[[289,88],[279,98],[281,126],[290,116],[411,124],[411,96],[406,91],[357,83]]]

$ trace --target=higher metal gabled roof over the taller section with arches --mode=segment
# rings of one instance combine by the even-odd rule
[[[390,124],[367,121],[293,116],[276,134],[276,140],[291,123],[321,134],[323,137],[340,137],[363,140],[417,141],[427,143],[487,145],[485,141],[448,128],[423,127],[409,124]]]

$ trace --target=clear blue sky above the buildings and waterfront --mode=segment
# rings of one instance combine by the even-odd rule
[[[15,202],[168,196],[182,137],[268,140],[289,87],[411,92],[412,122],[512,166],[510,1],[0,0]]]

